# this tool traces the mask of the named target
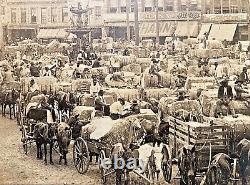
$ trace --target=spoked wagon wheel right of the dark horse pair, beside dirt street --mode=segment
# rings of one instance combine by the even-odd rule
[[[73,146],[73,160],[77,171],[84,174],[89,167],[89,149],[87,143],[82,138],[77,138]]]

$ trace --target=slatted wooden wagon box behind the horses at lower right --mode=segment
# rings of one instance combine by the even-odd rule
[[[231,151],[231,127],[220,122],[183,122],[169,117],[169,144],[173,157],[185,145],[195,145],[200,169],[206,168],[211,156]],[[211,148],[211,151],[210,151]],[[210,153],[211,152],[211,153]]]

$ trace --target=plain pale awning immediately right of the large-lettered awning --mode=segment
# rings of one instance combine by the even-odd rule
[[[175,30],[177,37],[197,37],[198,35],[198,22],[196,21],[179,21]]]

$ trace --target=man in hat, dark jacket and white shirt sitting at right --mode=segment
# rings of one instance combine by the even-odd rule
[[[221,81],[221,85],[218,90],[218,98],[219,100],[216,103],[215,108],[215,117],[222,114],[222,106],[226,106],[228,109],[228,112],[232,114],[234,118],[237,118],[237,115],[235,114],[234,105],[233,105],[233,90],[232,87],[228,85],[228,79],[224,78]]]

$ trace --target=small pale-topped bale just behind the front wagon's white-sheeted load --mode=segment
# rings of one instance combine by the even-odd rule
[[[76,106],[73,110],[73,115],[80,115],[80,120],[84,123],[89,122],[94,112],[94,107],[90,106]]]

